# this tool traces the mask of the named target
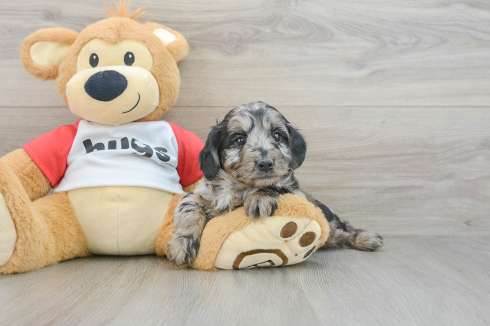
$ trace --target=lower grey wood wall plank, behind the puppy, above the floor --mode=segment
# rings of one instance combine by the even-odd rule
[[[490,235],[488,108],[277,107],[301,129],[303,188],[383,236]],[[173,107],[163,119],[205,140],[226,107]],[[0,108],[0,156],[77,117]]]

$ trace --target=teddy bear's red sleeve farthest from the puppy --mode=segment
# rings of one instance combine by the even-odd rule
[[[66,159],[73,145],[78,123],[61,126],[37,137],[22,148],[54,188],[66,171]]]

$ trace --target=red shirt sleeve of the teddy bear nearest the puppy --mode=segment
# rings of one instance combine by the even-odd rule
[[[199,180],[203,175],[197,158],[204,144],[196,134],[171,122],[168,124],[172,127],[177,139],[177,173],[180,177],[180,184],[182,187],[186,187]]]

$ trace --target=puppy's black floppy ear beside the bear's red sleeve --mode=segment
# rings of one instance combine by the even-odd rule
[[[204,178],[207,180],[213,180],[218,174],[219,163],[219,145],[221,142],[221,125],[215,125],[212,127],[209,135],[207,136],[206,144],[199,153],[199,164]]]

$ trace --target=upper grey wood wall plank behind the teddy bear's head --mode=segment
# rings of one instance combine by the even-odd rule
[[[111,1],[105,1],[110,3]],[[61,106],[27,74],[19,44],[39,28],[80,31],[99,0],[0,3],[2,106]],[[490,106],[490,2],[482,0],[133,1],[180,31],[179,106]]]

